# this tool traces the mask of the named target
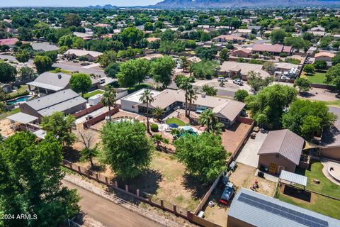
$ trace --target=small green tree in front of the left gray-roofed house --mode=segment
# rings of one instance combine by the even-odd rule
[[[64,116],[62,112],[54,112],[51,116],[42,118],[41,127],[47,133],[55,135],[62,145],[70,146],[76,141],[76,136],[72,133],[75,120],[72,115]]]

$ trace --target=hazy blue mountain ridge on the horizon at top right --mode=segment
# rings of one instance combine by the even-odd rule
[[[161,9],[207,9],[246,6],[317,6],[340,5],[339,0],[164,0],[154,5]]]

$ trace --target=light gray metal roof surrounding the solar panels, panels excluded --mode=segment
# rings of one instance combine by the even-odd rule
[[[251,206],[249,204],[244,203],[243,201],[239,201],[239,196],[241,193],[248,194],[250,196],[254,196],[258,199],[263,199],[264,201],[271,202],[278,206],[283,206],[285,209],[291,209],[293,211],[300,212],[302,214],[312,216],[314,218],[319,218],[323,221],[328,222],[329,227],[339,227],[340,221],[334,218],[330,218],[329,216],[324,216],[322,214],[318,214],[314,211],[309,211],[307,209],[300,208],[299,206],[294,206],[292,204],[285,203],[283,201],[279,201],[278,199],[274,199],[269,196],[265,196],[258,192],[253,192],[248,189],[242,188],[239,190],[237,195],[232,200],[232,204],[230,205],[228,216],[232,216],[246,223],[250,223],[252,226],[261,226],[261,227],[306,227],[302,223],[297,221],[293,221],[289,218],[285,218],[284,216],[280,216],[278,214],[273,214],[273,212],[266,211],[265,209],[259,209],[256,206]]]

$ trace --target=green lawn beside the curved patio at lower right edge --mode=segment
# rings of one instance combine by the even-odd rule
[[[300,175],[305,175],[308,178],[307,189],[340,198],[340,186],[327,179],[327,177],[325,177],[322,173],[322,168],[323,165],[321,162],[311,160],[310,170],[302,170],[301,168],[297,167],[295,172]],[[319,179],[320,183],[315,184],[313,179]]]

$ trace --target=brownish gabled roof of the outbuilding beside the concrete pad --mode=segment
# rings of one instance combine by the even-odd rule
[[[259,155],[278,153],[299,165],[305,140],[288,129],[271,131],[263,141]]]

